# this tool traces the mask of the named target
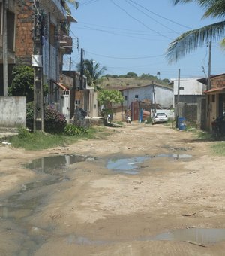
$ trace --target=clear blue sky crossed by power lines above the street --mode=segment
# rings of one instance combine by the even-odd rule
[[[68,69],[76,70],[81,48],[84,59],[106,67],[104,75],[157,75],[160,79],[204,78],[208,75],[208,47],[199,47],[169,64],[166,49],[178,35],[219,20],[202,19],[203,9],[194,3],[172,5],[172,0],[79,0],[76,10],[70,5],[77,23],[71,25],[73,53],[65,56]],[[225,72],[225,50],[212,42],[211,74]]]

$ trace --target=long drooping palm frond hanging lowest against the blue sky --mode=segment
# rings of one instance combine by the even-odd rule
[[[225,21],[184,32],[169,44],[169,48],[166,50],[166,59],[169,62],[175,62],[207,41],[217,40],[224,34]]]

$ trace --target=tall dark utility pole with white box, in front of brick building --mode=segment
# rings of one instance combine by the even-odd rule
[[[42,68],[42,32],[43,17],[40,14],[39,0],[34,0],[34,131],[44,131],[43,124],[43,68]]]

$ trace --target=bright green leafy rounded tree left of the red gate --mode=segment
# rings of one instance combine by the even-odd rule
[[[101,90],[98,92],[99,105],[104,105],[105,109],[112,111],[113,103],[122,103],[124,97],[118,90]]]

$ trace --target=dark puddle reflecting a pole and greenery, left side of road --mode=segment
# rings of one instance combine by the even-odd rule
[[[53,157],[42,157],[26,164],[26,168],[34,169],[37,172],[44,172],[53,175],[59,175],[66,172],[69,165],[73,163],[84,162],[89,157],[80,155],[59,155]]]

